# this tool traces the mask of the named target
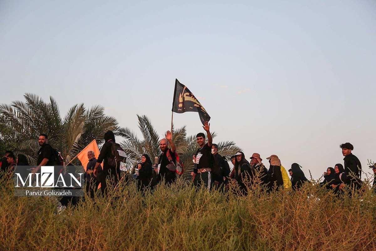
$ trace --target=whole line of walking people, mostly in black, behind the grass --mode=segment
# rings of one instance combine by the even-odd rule
[[[225,192],[233,186],[238,188],[238,193],[246,195],[250,185],[256,182],[268,192],[279,189],[298,190],[304,183],[310,182],[299,164],[293,163],[287,172],[275,154],[266,158],[269,162],[269,168],[267,168],[260,154],[253,153],[248,161],[243,152],[236,152],[230,157],[233,165],[231,169],[226,158],[218,154],[218,145],[213,144],[210,124],[205,122],[203,129],[206,131],[207,138],[202,132],[196,135],[199,148],[193,155],[194,169],[191,176],[192,183],[196,187],[204,186],[208,190],[219,189]],[[106,195],[108,182],[112,183],[112,187],[116,187],[121,179],[126,181],[128,179],[128,175],[124,175],[120,166],[113,164],[117,152],[114,149],[121,149],[120,145],[115,142],[114,132],[106,132],[104,139],[105,143],[97,158],[94,151],[88,151],[89,162],[86,166],[85,190],[91,198],[94,198],[99,184],[101,193]],[[6,151],[0,162],[1,170],[6,173],[6,176],[10,177],[14,171],[37,173],[40,172],[41,166],[55,164],[53,163],[54,150],[48,144],[47,135],[41,134],[38,142],[41,148],[38,151],[37,163],[30,169],[17,169],[17,166],[29,166],[25,155],[18,154],[16,158],[12,151]],[[178,171],[179,156],[176,154],[176,146],[172,141],[170,131],[167,131],[165,138],[159,142],[159,148],[162,154],[156,157],[154,164],[149,155],[142,154],[141,162],[133,168],[133,177],[137,180],[138,190],[141,193],[144,193],[146,189],[153,189],[160,182],[174,183],[181,175]],[[353,145],[344,143],[340,145],[340,148],[344,156],[344,164],[338,163],[334,168],[328,167],[323,175],[324,181],[320,185],[335,193],[342,193],[344,186],[360,189],[362,167],[359,159],[352,154]],[[103,163],[103,168],[101,163]],[[376,175],[376,164],[370,167]],[[376,185],[376,177],[373,185]]]

